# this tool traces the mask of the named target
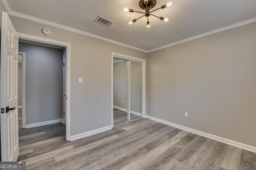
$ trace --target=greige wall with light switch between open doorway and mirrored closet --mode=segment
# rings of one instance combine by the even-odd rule
[[[14,16],[10,19],[20,33],[71,43],[71,135],[111,125],[111,52],[143,59],[147,54]],[[44,27],[52,29],[52,35],[44,35]],[[78,83],[79,77],[83,83]]]

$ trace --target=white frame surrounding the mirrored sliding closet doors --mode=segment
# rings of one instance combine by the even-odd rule
[[[122,55],[118,53],[111,53],[111,125],[112,128],[114,127],[114,114],[113,114],[113,61],[114,57],[120,58],[120,59],[126,59],[130,61],[137,61],[142,63],[142,118],[146,118],[146,60],[140,59],[137,57],[131,57],[128,55]],[[130,75],[129,75],[130,79]],[[130,96],[130,95],[128,95]],[[128,109],[127,109],[128,111]]]

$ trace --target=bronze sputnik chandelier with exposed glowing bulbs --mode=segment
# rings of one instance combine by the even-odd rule
[[[126,8],[126,7],[124,7],[124,12],[138,12],[138,13],[144,14],[143,16],[145,16],[145,17],[147,17],[147,18],[151,15],[151,16],[154,16],[154,17],[159,18],[160,20],[163,20],[163,21],[165,21],[165,22],[168,22],[168,21],[169,21],[168,18],[155,16],[155,15],[151,14],[151,12],[154,12],[154,11],[156,11],[156,10],[164,9],[164,8],[166,8],[166,7],[171,6],[171,5],[172,5],[172,1],[168,2],[167,4],[162,5],[160,8],[158,8],[158,9],[153,10],[153,11],[150,12],[150,9],[151,9],[151,8],[154,8],[155,5],[156,5],[156,0],[140,0],[139,6],[140,6],[140,8],[141,8],[142,10],[145,10],[145,12],[134,11],[133,9]],[[141,16],[141,17],[139,17],[139,18],[137,18],[137,19],[134,19],[134,20],[129,21],[129,24],[132,25],[132,23],[136,22],[138,19],[142,18],[143,16]],[[150,27],[149,21],[147,21],[147,27],[148,27],[148,28]]]

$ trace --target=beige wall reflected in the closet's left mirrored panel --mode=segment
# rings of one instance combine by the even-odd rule
[[[125,60],[113,64],[113,105],[123,109],[128,107],[128,65]]]

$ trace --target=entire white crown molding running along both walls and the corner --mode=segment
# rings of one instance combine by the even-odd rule
[[[144,53],[150,53],[150,52],[157,51],[157,50],[160,50],[160,49],[164,49],[164,48],[167,48],[167,47],[171,47],[171,46],[174,46],[174,45],[177,45],[177,44],[185,43],[187,41],[191,41],[191,40],[194,40],[194,39],[205,37],[207,35],[212,35],[214,33],[219,33],[219,32],[222,32],[222,31],[226,31],[228,29],[232,29],[232,28],[240,27],[242,25],[246,25],[246,24],[249,24],[249,23],[256,22],[256,18],[252,18],[250,20],[242,21],[242,22],[239,22],[239,23],[235,23],[233,25],[229,25],[229,26],[223,27],[223,28],[215,29],[215,30],[207,32],[207,33],[203,33],[203,34],[200,34],[200,35],[196,35],[194,37],[190,37],[190,38],[183,39],[183,40],[180,40],[180,41],[177,41],[177,42],[174,42],[174,43],[170,43],[168,45],[157,47],[155,49],[144,50],[144,49],[140,49],[138,47],[134,47],[134,46],[131,46],[131,45],[128,45],[128,44],[124,44],[124,43],[120,43],[118,41],[114,41],[112,39],[100,37],[100,36],[94,35],[92,33],[88,33],[88,32],[81,31],[81,30],[78,30],[78,29],[74,29],[74,28],[71,28],[71,27],[67,27],[67,26],[64,26],[64,25],[60,25],[58,23],[53,23],[53,22],[50,22],[50,21],[41,20],[39,18],[35,18],[35,17],[32,17],[32,16],[28,16],[28,15],[25,15],[25,14],[14,12],[14,11],[11,10],[7,0],[1,0],[1,1],[2,1],[3,5],[4,5],[4,8],[6,9],[8,15],[16,16],[18,18],[23,18],[23,19],[26,19],[26,20],[30,20],[30,21],[34,21],[34,22],[38,22],[38,23],[42,23],[42,24],[46,24],[46,25],[50,25],[52,27],[57,27],[57,28],[60,28],[60,29],[64,29],[64,30],[67,30],[67,31],[74,32],[74,33],[79,33],[79,34],[82,34],[82,35],[86,35],[88,37],[93,37],[93,38],[100,39],[100,40],[103,40],[103,41],[107,41],[107,42],[110,42],[110,43],[113,43],[113,44],[117,44],[117,45],[121,45],[121,46],[124,46],[124,47],[128,47],[130,49],[142,51]]]

